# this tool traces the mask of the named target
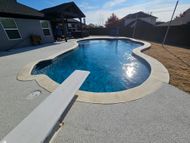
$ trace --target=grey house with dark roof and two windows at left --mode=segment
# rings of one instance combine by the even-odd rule
[[[0,35],[0,51],[31,45],[31,35],[40,36],[41,43],[54,41],[44,14],[16,0],[0,1]]]

